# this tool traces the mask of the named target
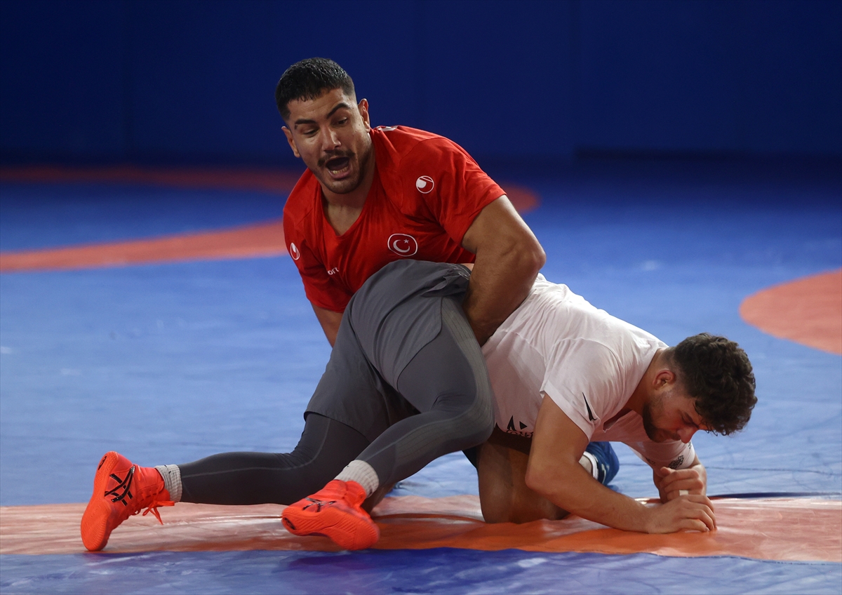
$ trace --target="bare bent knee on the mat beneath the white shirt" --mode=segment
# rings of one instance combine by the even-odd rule
[[[526,486],[529,438],[494,428],[480,446],[477,460],[479,500],[488,523],[529,523],[542,518],[557,520],[567,511]]]

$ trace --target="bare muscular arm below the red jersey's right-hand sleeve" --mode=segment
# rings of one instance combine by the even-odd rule
[[[482,345],[525,300],[546,255],[506,196],[480,211],[462,247],[477,255],[462,307]]]

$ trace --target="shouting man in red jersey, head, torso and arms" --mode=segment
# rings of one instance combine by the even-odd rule
[[[368,101],[336,62],[290,66],[275,100],[307,166],[284,210],[287,247],[331,345],[350,296],[399,258],[475,263],[463,308],[485,343],[546,259],[503,190],[441,136],[372,130]]]

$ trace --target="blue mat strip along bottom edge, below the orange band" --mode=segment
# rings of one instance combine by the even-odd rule
[[[9,555],[4,593],[839,592],[828,562],[519,550]],[[6,576],[14,577],[12,580]],[[340,584],[337,584],[339,582]]]

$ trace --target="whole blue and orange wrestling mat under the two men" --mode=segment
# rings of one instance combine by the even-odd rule
[[[283,452],[328,359],[280,215],[295,173],[0,172],[0,592],[842,592],[842,179],[833,168],[597,164],[493,173],[544,274],[668,343],[727,334],[759,405],[694,438],[719,529],[482,522],[450,454],[338,551],[281,507],[181,503],[102,553],[78,523],[101,454]],[[612,487],[645,500],[622,445]],[[654,504],[653,504],[654,505]]]

